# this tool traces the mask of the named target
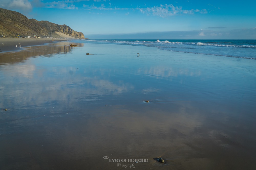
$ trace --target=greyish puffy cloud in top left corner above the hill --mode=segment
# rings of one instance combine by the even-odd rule
[[[0,0],[0,7],[22,13],[27,13],[32,10],[32,5],[28,0]]]

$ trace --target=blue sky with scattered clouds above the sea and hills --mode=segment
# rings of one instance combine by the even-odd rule
[[[251,0],[0,0],[0,8],[66,24],[90,39],[256,39],[255,6]]]

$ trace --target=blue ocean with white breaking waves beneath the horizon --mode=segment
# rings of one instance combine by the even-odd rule
[[[127,44],[162,50],[256,59],[256,40],[85,40],[89,43]]]

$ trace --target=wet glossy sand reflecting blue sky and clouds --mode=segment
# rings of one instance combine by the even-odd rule
[[[0,169],[255,169],[256,60],[44,40],[1,48]]]

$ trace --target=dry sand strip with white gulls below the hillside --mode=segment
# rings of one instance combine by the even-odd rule
[[[44,44],[47,44],[47,43],[54,43],[54,42],[57,42],[57,41],[69,41],[69,40],[71,40],[71,39],[1,37],[0,38],[0,53],[10,52],[10,51],[18,51],[18,50],[21,50],[21,47],[44,45]]]

